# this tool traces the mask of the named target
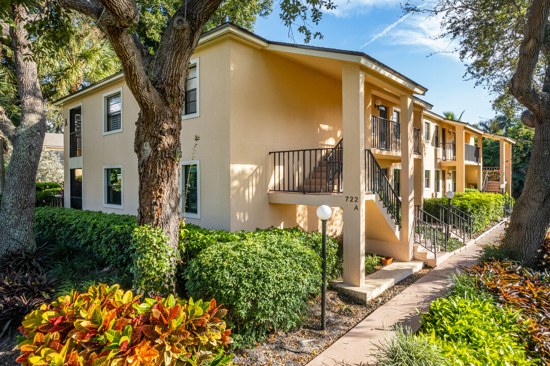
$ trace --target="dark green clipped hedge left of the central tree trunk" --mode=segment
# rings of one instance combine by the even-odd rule
[[[64,243],[94,253],[106,264],[130,273],[135,216],[63,207],[37,207],[34,231],[39,242]]]

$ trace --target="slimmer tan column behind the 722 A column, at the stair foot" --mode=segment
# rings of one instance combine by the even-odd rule
[[[414,235],[414,120],[412,95],[401,96],[401,248],[397,260],[412,259]],[[421,149],[423,152],[423,149]]]

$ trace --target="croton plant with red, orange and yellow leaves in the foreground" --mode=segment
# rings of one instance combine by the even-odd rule
[[[216,301],[139,299],[118,285],[71,292],[26,315],[19,330],[27,366],[231,365],[233,342]]]

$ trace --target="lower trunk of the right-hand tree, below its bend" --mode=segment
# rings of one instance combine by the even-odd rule
[[[514,205],[502,248],[534,264],[550,227],[550,117],[538,121],[525,186]]]

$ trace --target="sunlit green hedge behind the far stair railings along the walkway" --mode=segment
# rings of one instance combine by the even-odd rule
[[[446,197],[425,199],[424,210],[441,218],[439,204],[447,207],[447,202]],[[474,218],[472,232],[476,232],[487,228],[491,221],[498,221],[503,214],[504,199],[502,195],[467,189],[464,193],[456,193],[452,204]]]

